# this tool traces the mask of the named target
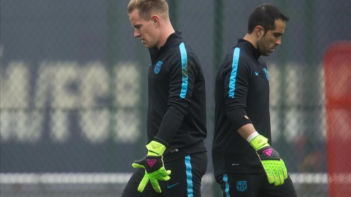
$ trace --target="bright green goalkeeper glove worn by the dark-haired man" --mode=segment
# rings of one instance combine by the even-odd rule
[[[256,154],[266,172],[268,182],[274,183],[274,186],[282,185],[284,180],[287,179],[285,164],[280,158],[279,153],[267,142],[267,138],[258,135],[250,141],[250,145],[256,150]]]

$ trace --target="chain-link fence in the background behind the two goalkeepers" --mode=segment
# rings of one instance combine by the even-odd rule
[[[329,130],[325,99],[328,87],[334,95],[346,90],[341,92],[350,98],[351,54],[333,57],[337,63],[328,68],[345,67],[337,76],[327,78],[323,63],[332,42],[351,40],[351,2],[269,2],[291,18],[282,46],[263,57],[274,148],[298,196],[351,196],[350,190],[336,193],[330,186],[328,172],[333,172],[342,174],[335,182],[351,188],[351,165],[342,171],[330,166],[344,162],[330,156],[335,154],[330,142],[338,141],[328,136],[338,130]],[[183,31],[206,79],[205,197],[221,196],[210,152],[215,73],[225,53],[244,37],[251,11],[263,3],[168,0],[174,29]],[[0,0],[1,196],[120,195],[133,172],[131,162],[145,154],[150,64],[148,50],[133,38],[127,4]],[[341,87],[328,86],[340,79]],[[350,105],[345,102],[344,113],[331,116],[338,116],[333,125],[342,125],[346,140],[351,138]],[[345,146],[336,152],[349,159]]]

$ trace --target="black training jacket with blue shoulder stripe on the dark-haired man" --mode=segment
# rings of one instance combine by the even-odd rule
[[[249,41],[238,39],[237,46],[229,50],[218,68],[212,144],[215,176],[263,172],[255,150],[238,133],[240,127],[252,123],[271,143],[269,76],[259,56]]]

